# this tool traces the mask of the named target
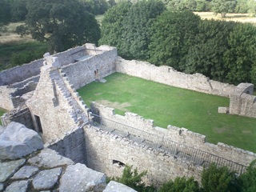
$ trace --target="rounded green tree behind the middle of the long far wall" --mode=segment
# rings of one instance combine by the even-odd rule
[[[151,28],[149,62],[184,70],[186,54],[194,46],[200,18],[189,10],[161,14]]]

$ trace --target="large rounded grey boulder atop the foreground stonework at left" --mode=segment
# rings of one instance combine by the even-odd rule
[[[0,135],[0,159],[22,158],[42,148],[38,133],[18,122],[10,122]]]

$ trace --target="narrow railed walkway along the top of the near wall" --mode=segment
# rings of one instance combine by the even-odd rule
[[[214,162],[217,166],[227,166],[230,171],[235,171],[237,174],[242,174],[246,171],[246,166],[237,162],[232,162],[226,158],[221,158],[217,155],[182,145],[178,142],[173,142],[170,139],[161,138],[146,131],[138,130],[134,127],[126,126],[107,118],[102,118],[97,114],[91,114],[91,117],[90,123],[92,126],[97,126],[98,128],[109,131],[112,134],[129,138],[134,142],[138,142],[154,150],[161,151],[162,153],[169,154],[174,158],[178,158],[186,162],[192,162],[195,166],[207,167],[210,163]]]

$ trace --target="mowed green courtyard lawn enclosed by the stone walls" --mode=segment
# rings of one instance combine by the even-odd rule
[[[98,102],[116,114],[130,111],[154,119],[154,126],[185,127],[206,135],[207,142],[224,142],[256,152],[256,119],[218,114],[229,98],[183,90],[126,74],[111,74],[107,82],[92,82],[78,90],[87,106]],[[132,125],[131,125],[132,126]]]

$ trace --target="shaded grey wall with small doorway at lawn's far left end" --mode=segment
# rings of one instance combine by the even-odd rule
[[[108,49],[106,49],[106,47]],[[80,62],[72,63],[62,67],[62,72],[66,73],[67,78],[75,89],[79,89],[95,80],[94,71],[98,69],[100,78],[104,78],[115,72],[114,61],[117,58],[116,48],[110,46],[99,46],[101,54],[90,56]]]

